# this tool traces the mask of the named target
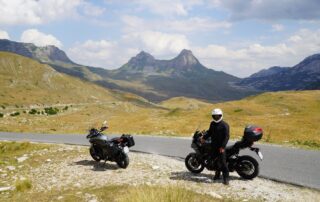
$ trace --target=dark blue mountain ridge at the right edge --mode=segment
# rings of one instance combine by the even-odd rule
[[[264,91],[320,89],[320,54],[311,55],[293,67],[271,67],[238,83]]]

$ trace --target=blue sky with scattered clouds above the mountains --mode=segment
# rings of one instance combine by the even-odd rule
[[[106,69],[142,50],[168,60],[189,49],[246,77],[320,53],[320,0],[0,0],[0,38]]]

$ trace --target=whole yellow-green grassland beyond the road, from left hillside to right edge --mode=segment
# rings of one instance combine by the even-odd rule
[[[0,131],[85,133],[107,119],[110,133],[191,136],[197,127],[207,129],[211,110],[220,107],[232,138],[240,138],[246,124],[257,124],[264,128],[266,142],[320,147],[320,91],[264,93],[217,104],[179,97],[156,106],[14,54],[0,53],[0,73],[0,105],[6,107],[0,113],[20,112],[16,117],[0,118]],[[22,113],[32,104],[56,103],[74,104],[53,116]],[[15,109],[15,105],[23,108]]]

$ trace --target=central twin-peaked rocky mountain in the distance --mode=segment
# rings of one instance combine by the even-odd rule
[[[234,86],[239,78],[206,68],[190,50],[171,60],[157,60],[142,51],[106,77],[104,85],[112,88],[113,84],[155,102],[179,96],[224,101],[256,93]]]

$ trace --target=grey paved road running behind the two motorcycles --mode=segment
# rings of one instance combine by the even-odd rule
[[[191,150],[191,138],[134,136],[133,151],[184,158]],[[34,141],[89,145],[85,135],[19,134],[0,132],[0,140]],[[240,154],[250,154],[260,163],[260,176],[320,190],[320,152],[292,149],[276,145],[256,144],[263,155],[260,161],[248,149]]]

